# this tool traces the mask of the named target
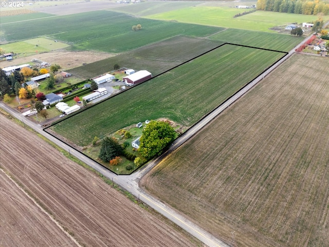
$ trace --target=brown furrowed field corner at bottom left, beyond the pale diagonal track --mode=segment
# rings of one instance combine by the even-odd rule
[[[77,246],[1,170],[0,182],[0,246]]]

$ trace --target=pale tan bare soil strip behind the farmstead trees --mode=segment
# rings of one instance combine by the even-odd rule
[[[8,67],[18,64],[29,63],[33,58],[39,59],[51,64],[59,64],[62,69],[70,69],[82,66],[84,64],[93,63],[106,58],[114,57],[114,54],[94,51],[65,51],[63,49],[35,54],[29,57],[15,58],[12,61],[0,61],[1,67]]]

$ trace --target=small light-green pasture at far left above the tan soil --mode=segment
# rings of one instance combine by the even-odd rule
[[[19,57],[26,57],[40,52],[57,50],[68,46],[69,45],[65,43],[54,42],[51,39],[43,37],[0,45],[5,52],[13,51],[15,54],[19,54]]]

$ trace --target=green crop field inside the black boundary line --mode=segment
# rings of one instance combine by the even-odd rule
[[[191,126],[284,54],[223,45],[51,129],[79,146],[146,119]]]

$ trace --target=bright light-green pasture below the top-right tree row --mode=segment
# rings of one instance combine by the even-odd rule
[[[303,23],[315,21],[316,15],[288,14],[279,12],[256,11],[240,17],[233,18],[237,13],[249,11],[228,7],[187,7],[169,12],[145,16],[156,20],[176,20],[178,22],[211,25],[226,28],[238,28],[275,32],[269,28],[287,25],[290,23]]]

